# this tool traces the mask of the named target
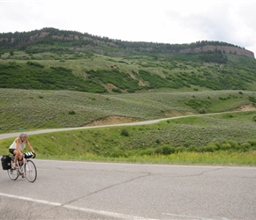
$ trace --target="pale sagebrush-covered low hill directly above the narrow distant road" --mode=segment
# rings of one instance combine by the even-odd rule
[[[184,114],[226,112],[256,105],[256,92],[88,92],[0,89],[0,132],[20,128],[81,127],[117,115],[146,121]]]

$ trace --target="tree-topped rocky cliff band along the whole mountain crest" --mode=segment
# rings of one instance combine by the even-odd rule
[[[202,53],[207,51],[222,51],[226,54],[246,55],[254,58],[252,51],[245,48],[239,48],[235,45],[231,45],[224,42],[199,41],[196,44],[186,45],[169,45],[169,44],[157,44],[149,42],[128,42],[122,40],[110,40],[109,38],[101,38],[88,33],[78,33],[70,31],[60,31],[55,28],[43,28],[41,30],[32,31],[29,33],[0,33],[0,48],[20,48],[34,45],[37,43],[54,44],[56,40],[62,43],[68,41],[76,41],[76,45],[83,46],[91,44],[94,48],[95,45],[105,45],[108,47],[135,49],[136,51],[147,52],[160,52],[160,53]],[[79,43],[78,43],[79,41]],[[104,47],[102,47],[104,48]]]

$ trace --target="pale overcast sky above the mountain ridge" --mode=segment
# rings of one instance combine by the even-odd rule
[[[255,11],[256,0],[0,0],[0,33],[54,27],[129,41],[218,40],[256,55]]]

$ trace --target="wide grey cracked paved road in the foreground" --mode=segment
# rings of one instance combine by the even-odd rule
[[[34,162],[34,183],[0,171],[0,219],[256,217],[256,167]]]

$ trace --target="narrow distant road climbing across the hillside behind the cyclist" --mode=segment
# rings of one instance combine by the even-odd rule
[[[249,109],[246,111],[255,111],[255,109]],[[79,130],[79,129],[90,129],[90,128],[102,128],[102,127],[115,127],[115,126],[132,126],[132,125],[147,125],[147,124],[154,124],[160,121],[167,121],[167,120],[174,120],[178,118],[185,118],[185,117],[192,117],[192,116],[207,116],[207,115],[215,115],[215,114],[227,114],[227,113],[237,113],[241,111],[233,111],[233,112],[223,112],[223,113],[214,113],[214,114],[191,114],[191,115],[183,115],[183,116],[176,116],[171,118],[163,118],[163,119],[156,119],[150,121],[139,121],[139,122],[130,122],[130,123],[123,123],[123,124],[111,124],[111,125],[98,125],[98,126],[90,126],[90,127],[78,127],[78,128],[50,128],[50,129],[42,129],[42,130],[34,130],[26,132],[28,135],[38,135],[44,133],[51,133],[51,132],[59,132],[59,131],[66,131],[66,130]],[[16,133],[9,133],[9,134],[0,134],[0,140],[9,138],[9,137],[16,137],[19,136],[20,132]]]

